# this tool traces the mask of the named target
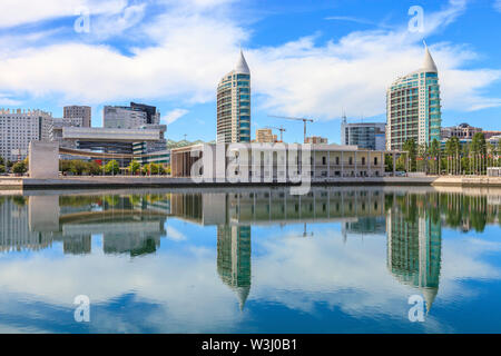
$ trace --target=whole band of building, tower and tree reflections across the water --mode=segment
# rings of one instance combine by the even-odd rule
[[[252,226],[340,222],[345,240],[386,234],[390,273],[419,288],[430,309],[439,290],[442,227],[482,231],[487,224],[499,224],[501,199],[407,190],[318,187],[291,196],[286,188],[151,189],[137,195],[0,197],[0,250],[39,250],[62,241],[65,254],[85,255],[91,253],[91,236],[101,235],[105,254],[135,257],[159,248],[169,217],[217,226],[217,271],[244,308],[252,285]]]

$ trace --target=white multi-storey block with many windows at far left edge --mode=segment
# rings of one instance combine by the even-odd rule
[[[28,156],[31,141],[49,141],[52,115],[41,110],[0,110],[0,156],[17,161]]]

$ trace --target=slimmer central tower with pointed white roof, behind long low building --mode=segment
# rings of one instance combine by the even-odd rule
[[[217,142],[250,142],[250,70],[242,50],[217,86]]]

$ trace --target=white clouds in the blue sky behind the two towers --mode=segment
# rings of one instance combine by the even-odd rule
[[[131,97],[168,98],[185,105],[214,101],[219,78],[233,68],[238,47],[250,32],[235,22],[229,0],[159,2],[167,4],[165,11],[145,22],[140,21],[144,8],[132,10],[127,1],[108,1],[100,9],[106,16],[98,24],[109,17],[124,19],[127,11],[134,14],[132,21],[119,22],[115,29],[98,26],[95,34],[116,36],[134,28],[151,46],[129,48],[131,56],[94,43],[27,46],[0,57],[0,91],[89,105]],[[384,113],[387,86],[421,65],[421,37],[451,23],[464,9],[465,1],[452,0],[441,11],[425,12],[425,33],[411,33],[406,28],[358,31],[326,43],[311,36],[247,50],[255,103],[276,113],[320,119],[336,118],[343,108],[353,116]],[[484,93],[501,79],[500,70],[462,69],[475,56],[461,44],[434,43],[431,50],[440,70],[444,110],[501,105],[499,98]],[[186,113],[179,110],[166,117],[168,123]]]

